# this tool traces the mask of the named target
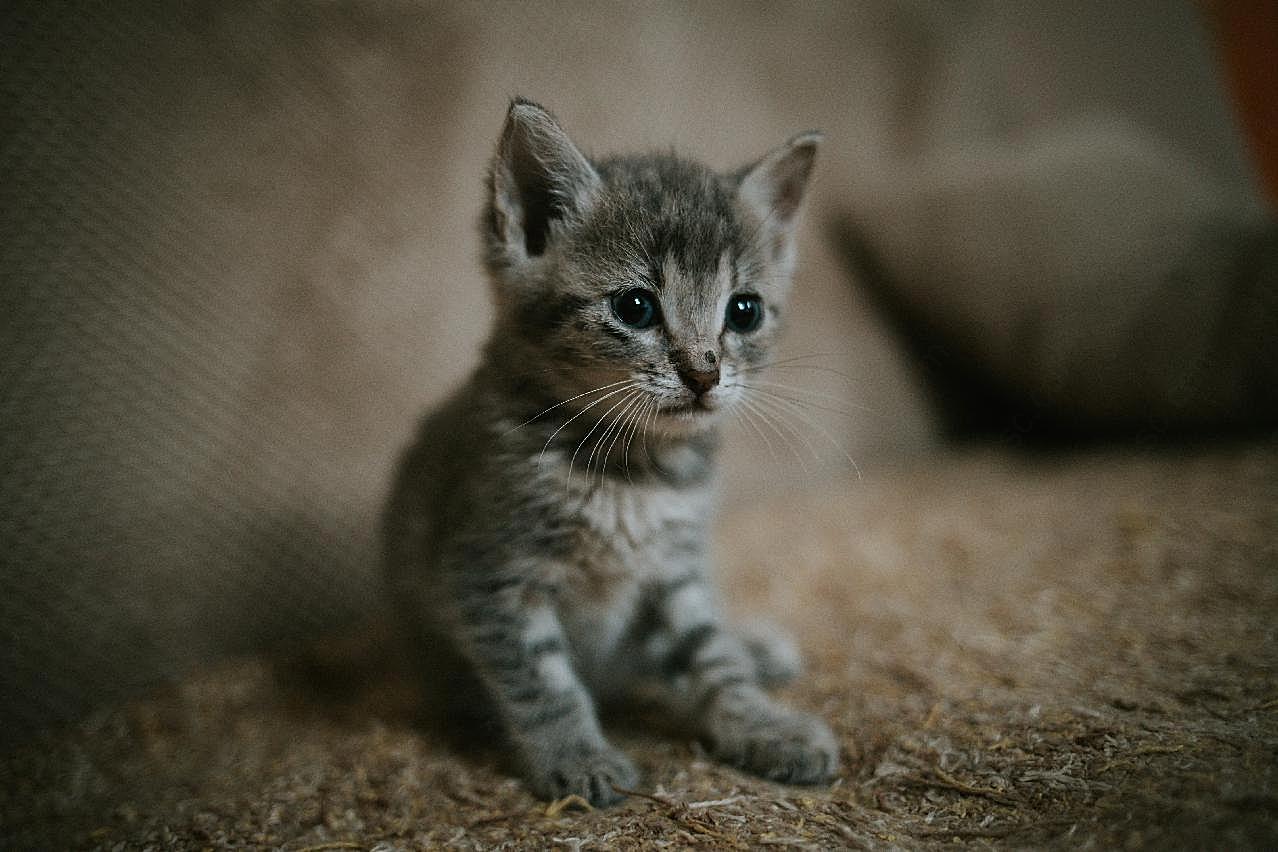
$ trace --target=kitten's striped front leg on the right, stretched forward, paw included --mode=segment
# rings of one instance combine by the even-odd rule
[[[681,711],[723,763],[773,780],[828,782],[838,745],[817,717],[773,701],[759,685],[755,658],[725,628],[709,586],[689,574],[658,589],[657,617],[643,644]]]

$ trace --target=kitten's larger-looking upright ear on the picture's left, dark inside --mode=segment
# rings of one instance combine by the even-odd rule
[[[514,266],[546,252],[553,225],[580,216],[599,175],[544,109],[515,98],[489,174],[487,229],[495,261]]]

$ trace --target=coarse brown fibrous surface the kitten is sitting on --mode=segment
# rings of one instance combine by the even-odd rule
[[[423,728],[382,632],[245,659],[10,755],[5,848],[1273,848],[1278,445],[965,453],[737,508],[723,575],[842,738],[781,787],[615,726],[643,796],[548,807]]]

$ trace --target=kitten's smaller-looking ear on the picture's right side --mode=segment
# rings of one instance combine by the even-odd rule
[[[800,133],[737,172],[737,195],[759,217],[760,234],[776,259],[790,253],[794,225],[817,158],[819,130]]]

